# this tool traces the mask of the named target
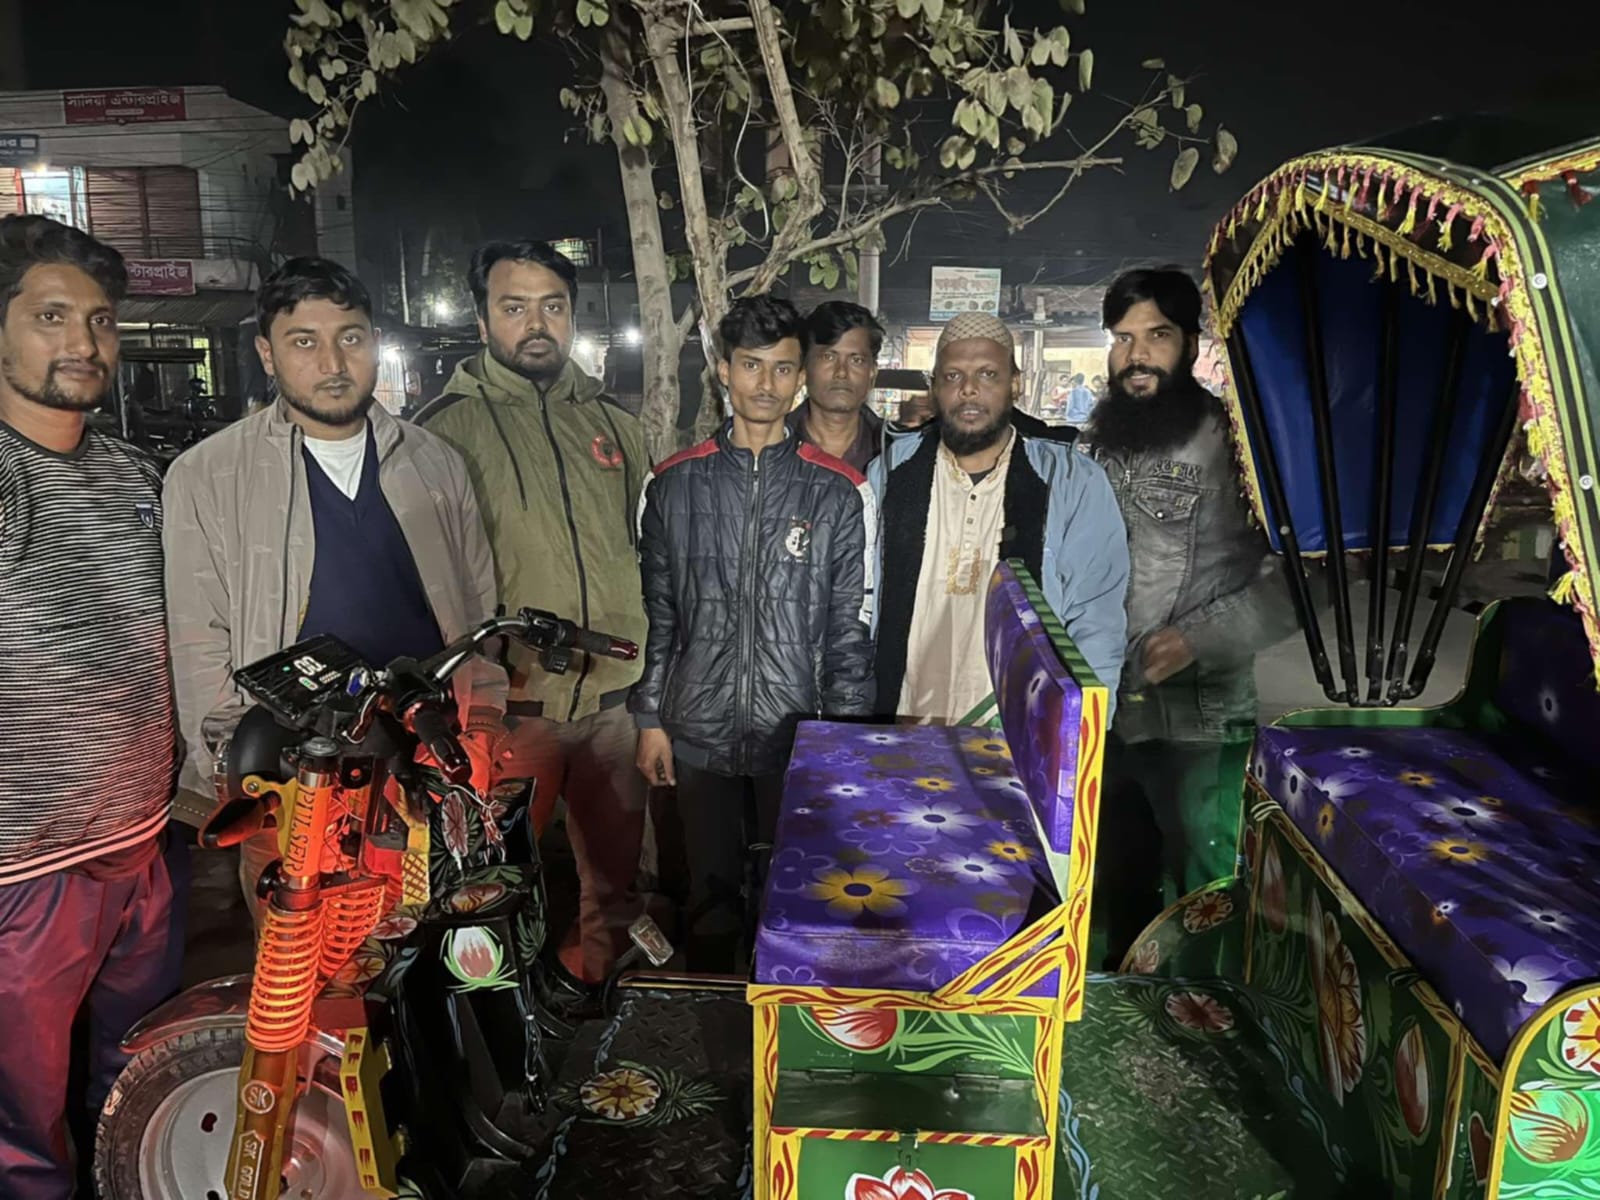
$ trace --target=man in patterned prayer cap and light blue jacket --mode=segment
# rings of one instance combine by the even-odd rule
[[[936,421],[872,464],[883,512],[877,610],[885,714],[963,723],[990,693],[984,597],[995,563],[1021,558],[1102,683],[1122,677],[1128,536],[1106,472],[1013,422],[1016,339],[968,312],[939,334]]]

